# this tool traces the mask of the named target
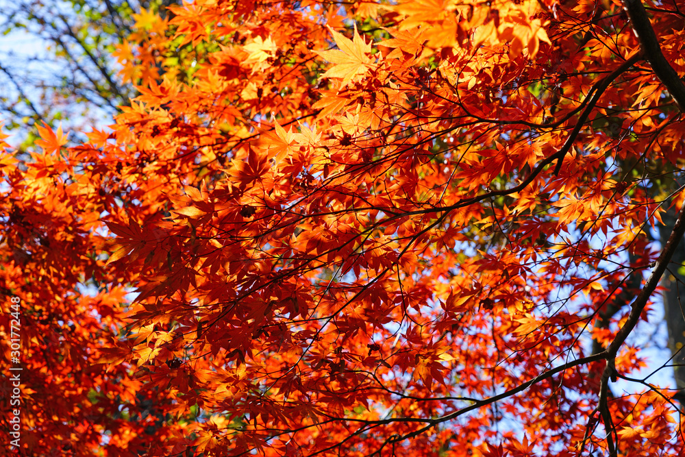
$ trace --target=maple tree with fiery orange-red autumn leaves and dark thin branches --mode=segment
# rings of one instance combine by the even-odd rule
[[[682,453],[632,374],[685,233],[685,3],[645,5],[145,16],[109,130],[3,157],[2,291],[71,329],[25,326],[27,451]]]

